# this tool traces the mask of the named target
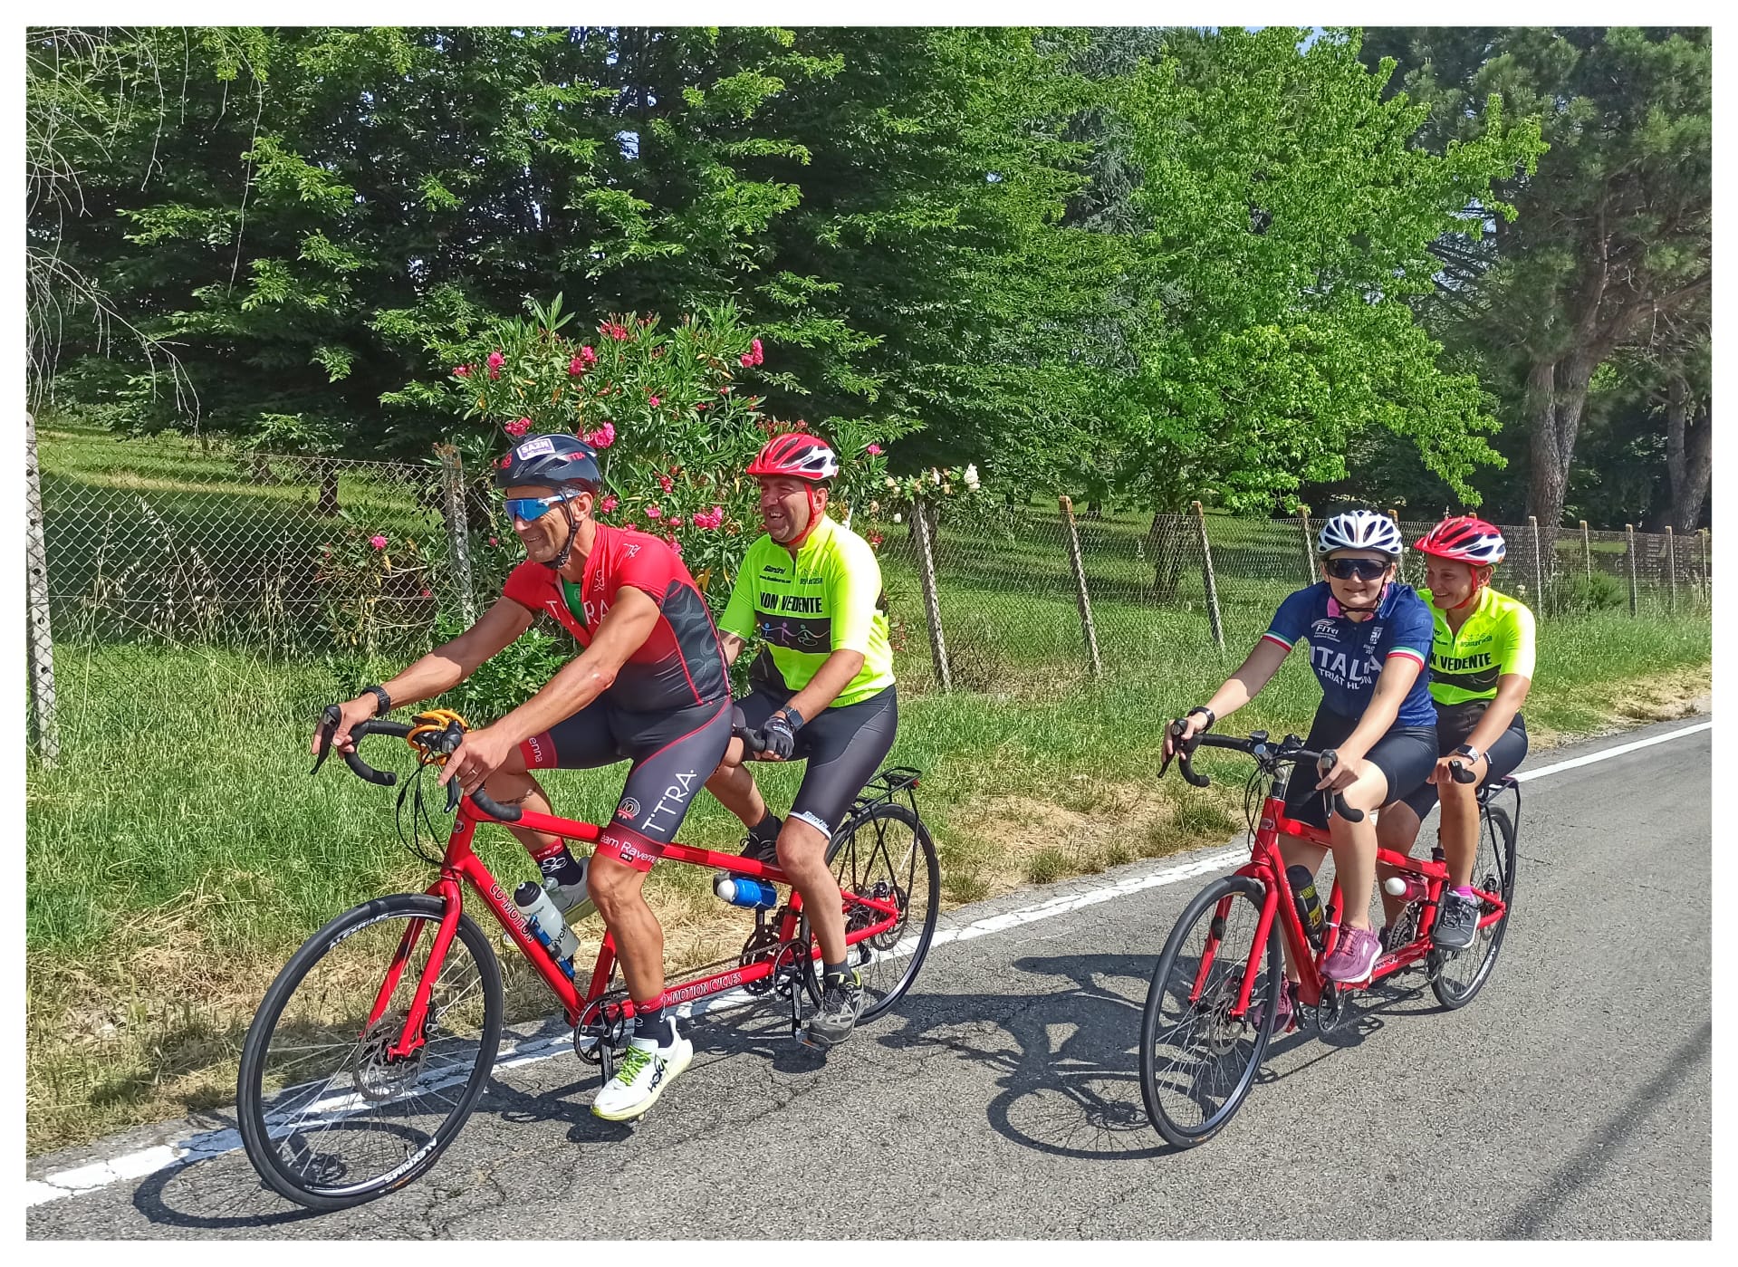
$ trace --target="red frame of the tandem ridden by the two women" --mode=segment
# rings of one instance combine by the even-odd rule
[[[1258,881],[1265,892],[1262,900],[1262,918],[1255,928],[1255,940],[1250,947],[1250,961],[1243,973],[1243,984],[1237,991],[1237,1003],[1232,1006],[1231,1015],[1241,1017],[1250,1008],[1250,994],[1255,987],[1255,977],[1260,970],[1260,958],[1265,954],[1267,939],[1274,926],[1274,919],[1279,921],[1281,935],[1286,940],[1286,949],[1291,958],[1291,965],[1298,973],[1298,999],[1307,1006],[1317,1006],[1323,994],[1330,992],[1330,987],[1338,982],[1330,982],[1321,975],[1323,961],[1333,952],[1335,942],[1340,935],[1340,923],[1343,914],[1343,895],[1340,892],[1340,879],[1335,876],[1333,892],[1328,902],[1323,905],[1323,949],[1317,952],[1310,945],[1305,932],[1304,919],[1298,916],[1297,900],[1291,893],[1291,883],[1286,876],[1284,859],[1279,853],[1279,838],[1293,836],[1309,845],[1317,845],[1321,848],[1331,848],[1331,839],[1326,831],[1314,827],[1297,819],[1288,819],[1286,808],[1286,786],[1291,777],[1291,770],[1281,768],[1274,775],[1274,784],[1267,793],[1267,799],[1262,801],[1260,827],[1255,833],[1251,843],[1250,862],[1236,871],[1239,876],[1250,876]],[[1439,850],[1437,850],[1439,853]],[[1418,959],[1430,952],[1430,928],[1436,923],[1437,902],[1443,897],[1443,886],[1448,883],[1448,864],[1439,857],[1432,859],[1415,859],[1406,853],[1396,853],[1394,850],[1376,848],[1376,866],[1392,867],[1401,874],[1415,874],[1425,881],[1425,895],[1422,900],[1423,911],[1418,919],[1418,933],[1406,945],[1399,945],[1382,952],[1376,958],[1375,968],[1370,973],[1370,980],[1363,985],[1373,985],[1383,977],[1390,977],[1403,968],[1411,966]],[[1479,928],[1486,928],[1503,918],[1507,905],[1502,893],[1488,893],[1481,888],[1474,888],[1477,897],[1491,902],[1495,911],[1484,914],[1479,919]],[[1231,897],[1225,897],[1215,914],[1224,919],[1231,911]],[[1196,984],[1192,987],[1191,998],[1199,999],[1201,991],[1206,987],[1208,970],[1213,966],[1213,952],[1201,956],[1201,968],[1196,973]],[[1356,982],[1354,982],[1356,984]]]

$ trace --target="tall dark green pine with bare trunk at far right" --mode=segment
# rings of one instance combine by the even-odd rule
[[[1712,283],[1712,42],[1705,28],[1396,28],[1363,56],[1404,66],[1436,153],[1488,136],[1476,109],[1538,120],[1550,151],[1493,186],[1517,209],[1481,242],[1446,235],[1443,320],[1470,327],[1488,381],[1522,384],[1528,511],[1562,521],[1601,365],[1660,351]],[[1695,339],[1682,341],[1695,346]],[[1686,476],[1691,466],[1686,462]],[[1688,487],[1688,480],[1686,480]]]

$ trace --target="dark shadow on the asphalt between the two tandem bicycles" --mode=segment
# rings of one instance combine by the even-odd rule
[[[1093,1161],[1173,1152],[1140,1100],[1140,999],[1152,958],[1031,956],[1013,970],[1034,984],[1013,980],[1003,994],[907,994],[902,1029],[876,1041],[998,1071],[1001,1093],[987,1118],[1022,1147]]]

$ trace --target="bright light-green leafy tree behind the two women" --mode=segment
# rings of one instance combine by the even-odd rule
[[[1342,478],[1375,434],[1476,501],[1474,468],[1498,461],[1489,400],[1410,301],[1469,207],[1502,214],[1491,181],[1531,160],[1536,129],[1493,104],[1477,139],[1430,155],[1410,144],[1427,111],[1383,99],[1389,68],[1359,64],[1356,35],[1178,35],[1128,82],[1145,311],[1140,368],[1105,401],[1126,487],[1267,509]]]

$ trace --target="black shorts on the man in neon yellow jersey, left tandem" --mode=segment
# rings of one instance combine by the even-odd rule
[[[855,704],[822,709],[819,718],[796,732],[796,751],[791,756],[806,758],[808,768],[791,801],[793,819],[833,838],[857,793],[893,749],[893,732],[899,728],[895,692],[895,687],[888,687]],[[740,725],[760,730],[794,693],[756,681],[754,690],[737,700]]]

